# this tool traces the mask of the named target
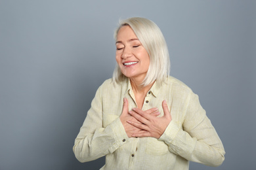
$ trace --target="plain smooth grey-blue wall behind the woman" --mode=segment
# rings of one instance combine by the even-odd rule
[[[153,20],[171,75],[200,101],[226,150],[217,168],[256,158],[255,1],[0,1],[0,169],[99,169],[74,139],[96,89],[112,76],[119,18]]]

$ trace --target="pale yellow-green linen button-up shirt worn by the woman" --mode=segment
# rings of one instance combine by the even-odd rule
[[[224,148],[198,95],[188,86],[169,76],[165,83],[154,83],[147,93],[142,110],[158,107],[167,101],[172,120],[160,139],[131,137],[125,133],[119,116],[123,97],[129,110],[137,107],[128,80],[113,84],[106,80],[97,90],[85,122],[75,139],[74,153],[81,162],[106,156],[101,169],[188,169],[189,161],[217,166],[224,161]]]

